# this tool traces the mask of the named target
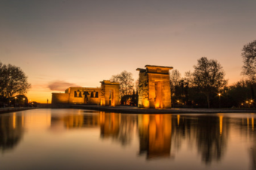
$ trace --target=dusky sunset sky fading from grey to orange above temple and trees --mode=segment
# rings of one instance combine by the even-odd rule
[[[69,86],[137,67],[171,66],[184,76],[197,59],[218,60],[229,85],[242,79],[242,46],[256,39],[255,0],[0,0],[0,61],[46,103]]]

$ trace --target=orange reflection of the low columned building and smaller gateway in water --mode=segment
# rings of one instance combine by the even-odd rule
[[[52,130],[75,128],[99,128],[102,139],[113,139],[121,145],[129,145],[133,138],[133,128],[136,124],[135,115],[117,113],[90,112],[58,115],[51,118]],[[62,129],[64,130],[64,129]]]

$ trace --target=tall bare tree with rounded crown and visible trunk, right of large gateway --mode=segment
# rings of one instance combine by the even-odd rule
[[[197,65],[194,66],[193,83],[206,95],[208,107],[210,107],[210,94],[227,85],[227,79],[224,79],[225,73],[218,61],[208,60],[206,57],[202,57],[197,61]]]

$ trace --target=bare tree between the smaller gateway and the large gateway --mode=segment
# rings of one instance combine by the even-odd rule
[[[133,73],[124,70],[122,73],[113,75],[111,77],[111,82],[120,83],[120,96],[133,94]]]

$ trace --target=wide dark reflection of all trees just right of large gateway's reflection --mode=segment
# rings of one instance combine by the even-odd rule
[[[221,160],[227,148],[227,118],[222,115],[218,117],[177,115],[172,119],[172,147],[176,151],[185,141],[190,147],[197,146],[204,163]]]

